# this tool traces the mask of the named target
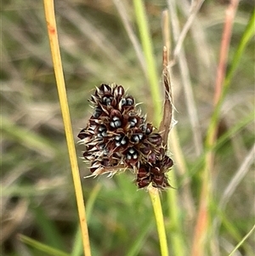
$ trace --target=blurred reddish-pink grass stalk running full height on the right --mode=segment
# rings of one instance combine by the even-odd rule
[[[220,106],[224,100],[224,79],[226,62],[228,58],[228,50],[230,37],[232,32],[235,11],[238,7],[239,0],[232,0],[226,11],[223,38],[220,48],[218,71],[216,77],[215,94],[214,94],[214,113],[212,115],[209,128],[207,130],[206,148],[210,149],[215,144],[216,133],[219,120]],[[194,240],[192,243],[192,256],[203,256],[206,253],[206,238],[210,233],[209,222],[209,205],[212,197],[212,169],[214,162],[214,151],[208,150],[205,156],[205,165],[202,172],[202,185],[199,211],[197,215]]]

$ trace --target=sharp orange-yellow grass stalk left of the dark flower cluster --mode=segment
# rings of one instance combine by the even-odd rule
[[[82,230],[82,242],[83,242],[83,250],[84,255],[90,256],[90,244],[89,244],[89,236],[88,236],[88,225],[87,218],[85,212],[85,205],[82,194],[82,184],[77,164],[77,154],[75,150],[75,144],[73,140],[73,133],[71,128],[71,117],[68,107],[67,95],[65,90],[65,80],[63,74],[63,68],[60,58],[59,51],[59,40],[57,33],[56,20],[54,15],[54,1],[53,0],[44,0],[44,9],[45,16],[48,26],[48,37],[51,48],[52,59],[54,63],[54,72],[57,82],[57,88],[59,93],[59,103],[62,112],[64,127],[65,127],[65,137],[69,152],[69,158],[71,162],[71,173],[73,177],[75,193],[77,197],[77,208],[80,219],[80,225]]]

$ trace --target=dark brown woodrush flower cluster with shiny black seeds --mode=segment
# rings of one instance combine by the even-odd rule
[[[78,134],[92,175],[115,174],[129,168],[139,188],[169,186],[166,172],[173,166],[161,134],[146,122],[132,96],[121,85],[101,84],[89,100],[94,109],[86,128]]]

